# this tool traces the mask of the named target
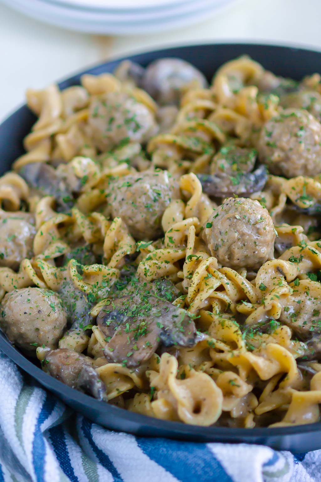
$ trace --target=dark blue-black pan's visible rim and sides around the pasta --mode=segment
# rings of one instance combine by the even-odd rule
[[[250,55],[277,75],[296,80],[314,72],[321,72],[321,52],[273,45],[193,45],[148,52],[128,58],[145,67],[154,59],[160,57],[180,57],[198,67],[207,79],[211,80],[218,67],[242,54]],[[121,60],[124,59],[89,68],[64,80],[59,85],[64,89],[79,84],[80,76],[84,73],[113,72]],[[23,154],[23,138],[29,133],[35,120],[35,116],[24,106],[0,125],[0,175],[9,170],[12,162]],[[0,350],[67,405],[87,416],[93,422],[107,428],[145,437],[169,437],[196,442],[258,443],[293,452],[307,452],[321,448],[321,423],[288,428],[219,428],[194,427],[178,422],[157,420],[156,418],[128,412],[104,402],[98,402],[73,388],[67,387],[50,375],[45,374],[38,366],[29,361],[11,345],[1,332]]]

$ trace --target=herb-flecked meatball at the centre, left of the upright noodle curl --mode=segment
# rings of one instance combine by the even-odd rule
[[[161,220],[179,189],[167,171],[144,172],[111,181],[108,202],[113,217],[119,216],[136,240],[162,235]]]

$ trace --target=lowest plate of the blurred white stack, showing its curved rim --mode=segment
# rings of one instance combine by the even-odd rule
[[[115,19],[111,20],[105,13],[68,9],[57,4],[44,3],[43,0],[2,1],[21,13],[57,27],[91,34],[132,35],[154,33],[174,27],[191,25],[211,14],[217,13],[218,10],[226,5],[230,5],[235,0],[212,0],[212,4],[208,4],[208,1],[211,0],[198,0],[195,5],[196,11],[188,13],[178,11],[176,15],[162,18],[156,15],[157,18],[150,18],[148,21],[136,19],[135,22],[123,22],[120,20],[116,22]],[[204,5],[203,8],[202,5]]]

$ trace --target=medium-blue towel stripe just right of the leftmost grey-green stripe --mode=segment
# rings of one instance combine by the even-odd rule
[[[39,482],[43,482],[45,480],[44,467],[45,467],[45,455],[46,455],[46,445],[45,445],[43,434],[41,432],[41,425],[51,415],[55,404],[56,404],[55,399],[49,393],[47,393],[36,423],[36,427],[35,427],[33,449],[32,449],[32,461],[33,461],[37,481]]]

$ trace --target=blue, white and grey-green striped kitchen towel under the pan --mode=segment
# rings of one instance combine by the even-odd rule
[[[321,450],[177,442],[77,415],[0,353],[0,482],[319,482]]]

